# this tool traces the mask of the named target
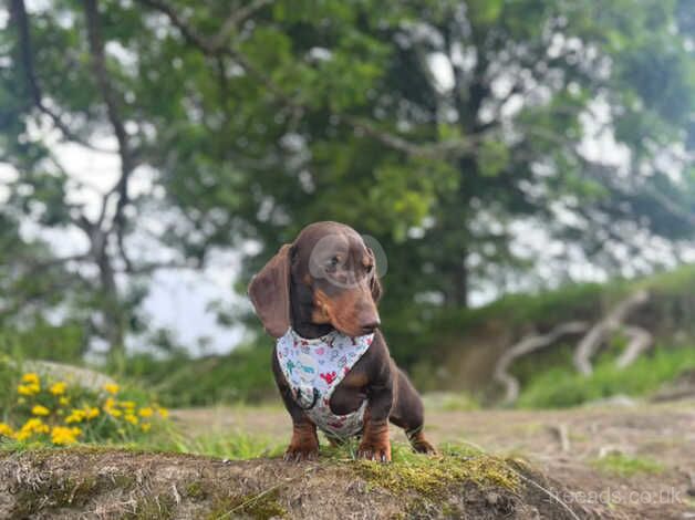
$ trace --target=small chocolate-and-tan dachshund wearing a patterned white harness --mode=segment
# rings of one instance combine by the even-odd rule
[[[343,423],[355,420],[360,429],[350,435],[362,436],[361,458],[391,460],[388,420],[404,428],[416,451],[435,451],[423,435],[423,403],[377,330],[374,253],[354,229],[338,222],[308,226],[253,277],[249,295],[266,331],[279,339],[273,373],[293,424],[286,460],[318,457],[321,405],[332,417],[318,426],[332,443],[350,431]],[[319,379],[318,372],[331,363],[338,363],[338,376],[333,371]],[[332,391],[317,389],[334,381]],[[343,430],[333,428],[335,423]]]

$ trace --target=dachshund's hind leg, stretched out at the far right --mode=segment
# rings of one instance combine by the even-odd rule
[[[396,399],[391,412],[391,422],[405,430],[413,449],[421,454],[436,454],[437,450],[429,444],[423,433],[425,424],[425,407],[423,399],[413,387],[407,376],[397,368]]]

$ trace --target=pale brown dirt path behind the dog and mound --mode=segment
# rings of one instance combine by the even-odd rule
[[[189,409],[174,416],[191,434],[245,431],[284,440],[290,431],[280,408]],[[695,519],[695,402],[557,412],[431,410],[427,433],[438,445],[471,443],[522,456],[561,482],[557,491],[577,511]],[[400,431],[392,435],[404,439]]]

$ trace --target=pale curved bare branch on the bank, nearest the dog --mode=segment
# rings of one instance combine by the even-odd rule
[[[519,382],[509,373],[511,364],[519,357],[539,351],[556,343],[568,334],[581,334],[589,329],[582,321],[572,321],[556,326],[548,334],[527,336],[512,345],[497,361],[494,379],[505,387],[505,404],[511,404],[519,397]]]

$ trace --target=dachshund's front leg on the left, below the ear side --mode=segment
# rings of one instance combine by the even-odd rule
[[[272,354],[272,372],[276,376],[276,383],[284,407],[292,417],[292,439],[284,451],[284,460],[315,460],[319,458],[319,437],[317,436],[317,425],[314,425],[304,410],[294,402],[292,391],[287,384],[284,375],[278,364],[278,357],[273,350]]]

